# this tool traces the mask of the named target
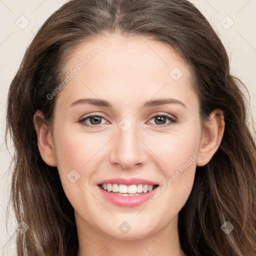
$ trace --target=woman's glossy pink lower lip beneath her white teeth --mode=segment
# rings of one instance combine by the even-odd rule
[[[150,196],[152,196],[156,192],[155,187],[153,190],[147,193],[141,193],[140,195],[133,195],[133,196],[123,196],[119,194],[115,194],[113,192],[107,192],[106,190],[100,188],[102,195],[111,203],[120,206],[120,207],[136,207],[138,205],[143,204],[146,202]]]

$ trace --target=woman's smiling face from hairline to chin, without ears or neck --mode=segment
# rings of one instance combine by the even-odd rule
[[[77,224],[123,239],[176,228],[201,158],[189,67],[162,42],[102,35],[72,53],[63,84],[52,142]]]

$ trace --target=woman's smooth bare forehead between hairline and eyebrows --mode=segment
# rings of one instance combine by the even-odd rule
[[[63,80],[71,73],[61,91],[65,102],[81,95],[115,102],[118,98],[127,105],[131,99],[144,102],[154,96],[191,103],[191,96],[196,97],[184,60],[166,43],[143,36],[114,33],[81,42],[69,53]]]

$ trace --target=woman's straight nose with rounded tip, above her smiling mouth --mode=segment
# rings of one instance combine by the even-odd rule
[[[133,125],[126,131],[117,127],[117,134],[111,145],[111,163],[125,170],[143,165],[146,162],[146,146],[139,137]]]

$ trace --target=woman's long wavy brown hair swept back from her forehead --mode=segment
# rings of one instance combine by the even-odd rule
[[[189,65],[200,116],[224,112],[221,144],[197,167],[192,191],[179,212],[186,255],[256,254],[256,146],[246,110],[246,87],[230,74],[225,48],[202,13],[186,0],[71,0],[41,26],[27,48],[8,93],[6,134],[14,145],[11,203],[28,230],[16,234],[18,256],[76,255],[73,208],[56,167],[41,158],[33,114],[51,122],[67,52],[103,33],[142,35],[170,45]],[[245,92],[244,92],[245,91]],[[9,133],[8,133],[9,132]],[[10,203],[10,202],[9,202]],[[9,205],[8,205],[9,206]],[[225,234],[228,220],[234,229]]]

